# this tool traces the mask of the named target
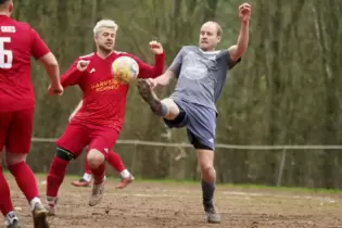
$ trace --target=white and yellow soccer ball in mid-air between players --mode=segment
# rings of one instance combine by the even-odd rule
[[[138,77],[139,65],[130,56],[119,56],[112,63],[112,74],[122,83],[130,83]]]

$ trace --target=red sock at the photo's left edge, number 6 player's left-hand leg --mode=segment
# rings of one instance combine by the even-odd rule
[[[1,155],[1,153],[0,153]],[[11,192],[8,181],[5,180],[2,167],[0,166],[0,211],[3,216],[7,216],[9,212],[14,211],[13,204],[11,201]]]

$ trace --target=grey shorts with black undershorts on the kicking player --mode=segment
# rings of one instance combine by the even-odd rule
[[[169,128],[187,128],[188,138],[195,149],[215,149],[216,111],[183,100],[174,100],[180,114],[173,121],[164,118]]]

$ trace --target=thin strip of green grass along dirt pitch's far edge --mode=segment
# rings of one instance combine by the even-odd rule
[[[4,172],[8,175],[9,172]],[[45,178],[47,174],[36,173],[39,178]],[[66,175],[67,178],[79,178],[77,175]],[[114,177],[109,177],[114,179]],[[199,186],[198,180],[179,180],[179,179],[143,179],[137,178],[135,182],[153,182],[153,183],[168,183],[168,185],[193,185]],[[288,192],[302,192],[302,193],[326,193],[326,194],[341,194],[342,189],[322,189],[322,188],[301,188],[301,187],[275,187],[265,185],[253,185],[253,183],[217,183],[218,187],[231,188],[232,190],[255,190],[255,191],[288,191]]]

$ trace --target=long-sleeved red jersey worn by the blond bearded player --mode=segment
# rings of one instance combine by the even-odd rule
[[[139,78],[154,78],[163,74],[164,53],[155,56],[153,67],[125,52],[113,52],[105,59],[100,58],[97,53],[78,58],[61,77],[63,87],[78,85],[84,93],[83,105],[73,117],[72,123],[122,129],[129,85],[114,79],[111,67],[113,61],[123,55],[130,56],[137,61]],[[85,72],[79,72],[76,67],[79,60],[90,61]]]

